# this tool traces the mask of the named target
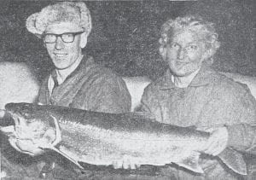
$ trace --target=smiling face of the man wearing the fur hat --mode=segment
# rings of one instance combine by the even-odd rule
[[[67,32],[81,32],[81,28],[72,23],[61,22],[53,24],[46,28],[45,34],[63,34]],[[81,49],[84,48],[81,43],[81,34],[74,37],[73,43],[64,43],[61,37],[57,37],[55,43],[44,43],[48,54],[53,61],[55,68],[66,69],[71,67],[78,60]]]

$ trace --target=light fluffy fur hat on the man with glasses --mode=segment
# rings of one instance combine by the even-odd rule
[[[87,34],[91,30],[90,11],[83,2],[49,5],[26,19],[26,29],[40,38],[47,26],[60,22],[74,23],[83,28]]]

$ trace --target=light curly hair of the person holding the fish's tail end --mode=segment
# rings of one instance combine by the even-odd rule
[[[173,34],[182,30],[190,30],[195,33],[200,33],[207,49],[210,49],[210,54],[208,55],[209,58],[216,53],[220,46],[218,33],[216,32],[213,23],[203,20],[199,15],[186,15],[184,17],[177,17],[175,20],[167,20],[163,24],[160,31],[160,49],[166,47],[166,44],[172,43]]]

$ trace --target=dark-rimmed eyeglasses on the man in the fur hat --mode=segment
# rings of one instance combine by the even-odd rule
[[[66,32],[63,34],[53,34],[53,33],[45,33],[42,35],[42,39],[46,44],[54,44],[58,37],[61,37],[64,43],[70,44],[73,43],[75,36],[81,34],[83,32]]]

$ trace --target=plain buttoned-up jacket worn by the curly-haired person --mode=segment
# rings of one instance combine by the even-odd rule
[[[177,88],[168,70],[166,74],[149,84],[143,94],[143,110],[153,113],[163,123],[179,126],[212,127],[230,126],[236,132],[230,134],[230,145],[234,146],[239,136],[240,145],[249,147],[254,142],[253,133],[244,132],[244,125],[254,125],[256,121],[256,101],[245,84],[236,83],[203,66],[187,88]],[[236,126],[232,126],[236,125]],[[250,138],[247,138],[249,136]],[[241,140],[242,139],[242,140]],[[173,168],[180,179],[236,179],[217,158],[201,159],[204,176],[197,176]]]

